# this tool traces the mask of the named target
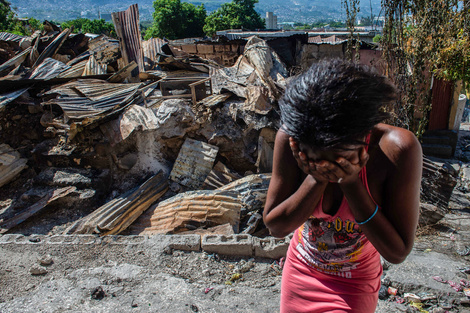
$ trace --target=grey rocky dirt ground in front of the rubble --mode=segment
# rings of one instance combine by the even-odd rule
[[[463,124],[447,160],[460,172],[447,215],[419,229],[405,262],[384,264],[376,312],[470,312],[469,135]],[[162,236],[55,243],[22,231],[0,236],[0,312],[279,311],[282,260],[173,250]]]

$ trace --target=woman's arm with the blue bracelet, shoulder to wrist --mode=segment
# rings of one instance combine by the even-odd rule
[[[389,262],[401,263],[411,252],[419,215],[422,151],[409,131],[392,128],[380,144],[391,168],[384,182],[381,209],[361,229]],[[367,220],[375,204],[359,181],[340,184],[356,221]]]

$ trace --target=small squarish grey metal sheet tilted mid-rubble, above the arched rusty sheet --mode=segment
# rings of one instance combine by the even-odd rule
[[[186,138],[173,165],[170,179],[198,189],[212,170],[218,151],[216,146]]]

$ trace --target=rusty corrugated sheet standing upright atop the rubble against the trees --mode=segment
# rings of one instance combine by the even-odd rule
[[[111,14],[118,37],[121,39],[121,53],[126,64],[135,61],[139,71],[144,71],[144,53],[140,35],[139,8],[131,5],[126,11]]]

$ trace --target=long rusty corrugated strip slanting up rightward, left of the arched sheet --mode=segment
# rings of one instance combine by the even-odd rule
[[[102,205],[90,215],[75,222],[68,234],[116,235],[127,229],[145,210],[168,190],[162,171],[142,185]]]

